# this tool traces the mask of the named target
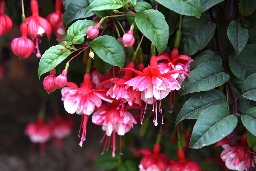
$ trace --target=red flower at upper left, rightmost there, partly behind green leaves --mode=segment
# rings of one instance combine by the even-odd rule
[[[57,41],[60,41],[63,35],[66,33],[66,29],[63,26],[62,23],[62,17],[63,17],[63,4],[62,2],[55,1],[55,12],[49,14],[46,17],[46,20],[50,23],[51,25],[51,31],[53,34],[56,35]]]

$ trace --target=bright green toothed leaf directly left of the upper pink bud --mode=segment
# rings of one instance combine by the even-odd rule
[[[86,31],[88,27],[90,27],[93,24],[96,23],[91,20],[78,20],[75,23],[73,23],[67,30],[68,41],[74,43],[82,37],[86,36]]]

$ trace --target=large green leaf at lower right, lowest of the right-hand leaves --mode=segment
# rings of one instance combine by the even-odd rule
[[[229,115],[229,110],[224,106],[206,109],[196,121],[189,147],[198,149],[222,140],[236,128],[237,122],[237,117]]]

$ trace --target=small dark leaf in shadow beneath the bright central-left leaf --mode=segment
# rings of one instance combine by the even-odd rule
[[[112,65],[104,62],[101,60],[97,54],[94,54],[94,59],[93,59],[94,67],[95,69],[101,74],[101,75],[106,75],[112,68]]]

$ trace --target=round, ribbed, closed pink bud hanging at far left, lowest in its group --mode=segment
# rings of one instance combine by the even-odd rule
[[[20,25],[20,31],[21,37],[13,39],[11,49],[19,59],[26,59],[32,54],[34,43],[27,38],[27,25],[25,23]]]

